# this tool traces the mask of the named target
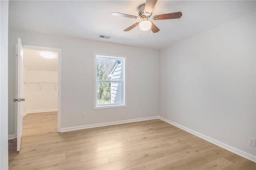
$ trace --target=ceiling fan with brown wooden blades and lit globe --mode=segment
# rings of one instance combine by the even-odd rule
[[[136,26],[140,26],[140,30],[142,31],[151,30],[152,32],[156,33],[160,31],[159,28],[149,20],[168,20],[168,19],[180,18],[182,16],[181,12],[173,12],[169,14],[155,15],[152,18],[150,18],[152,16],[152,11],[154,9],[156,2],[157,0],[146,0],[146,4],[142,4],[139,6],[138,16],[122,14],[118,12],[112,12],[111,14],[113,16],[123,16],[127,18],[141,19],[140,22],[136,22],[132,26],[126,28],[124,31],[130,31]]]

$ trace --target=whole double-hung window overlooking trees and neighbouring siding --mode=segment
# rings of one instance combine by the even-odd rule
[[[94,55],[94,109],[125,106],[125,57]]]

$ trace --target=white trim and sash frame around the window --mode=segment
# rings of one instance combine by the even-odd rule
[[[123,92],[123,103],[122,104],[102,104],[102,105],[97,105],[97,77],[96,77],[96,56],[100,56],[102,58],[106,57],[112,57],[112,58],[116,58],[116,59],[123,59],[122,60],[122,64],[123,64],[123,73],[122,73],[122,76],[123,76],[123,81],[116,81],[116,82],[123,82],[122,83],[122,92]],[[118,107],[126,107],[126,62],[127,62],[127,59],[126,59],[126,56],[124,55],[110,55],[110,54],[102,54],[102,53],[94,53],[94,109],[108,109],[108,108],[118,108]],[[108,81],[108,80],[102,80],[102,81],[105,81],[105,82],[113,82],[113,81]],[[102,82],[100,81],[100,82]]]

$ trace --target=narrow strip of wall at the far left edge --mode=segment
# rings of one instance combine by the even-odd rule
[[[8,169],[8,5],[0,1],[0,169]]]

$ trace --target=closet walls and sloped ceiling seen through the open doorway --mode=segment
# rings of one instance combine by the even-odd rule
[[[45,58],[46,51],[23,51],[23,115],[58,111],[58,52],[54,58]]]

